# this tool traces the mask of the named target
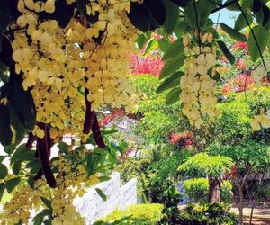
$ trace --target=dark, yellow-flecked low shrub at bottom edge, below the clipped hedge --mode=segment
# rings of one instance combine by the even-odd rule
[[[237,217],[229,212],[229,204],[207,203],[189,204],[185,211],[180,213],[180,223],[185,225],[235,225]]]

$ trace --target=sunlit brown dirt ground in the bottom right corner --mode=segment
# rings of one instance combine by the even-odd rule
[[[233,211],[238,214],[238,208],[232,207],[230,211]],[[251,208],[246,207],[244,209],[245,224],[249,224],[250,211],[251,211]],[[270,207],[256,208],[253,212],[252,224],[254,225],[269,224],[270,225]]]

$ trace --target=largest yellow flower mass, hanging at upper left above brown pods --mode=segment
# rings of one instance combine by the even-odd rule
[[[128,77],[127,56],[135,50],[137,39],[127,17],[130,1],[89,1],[86,6],[89,15],[98,15],[96,23],[73,18],[61,29],[56,20],[39,17],[40,12],[54,12],[55,0],[18,1],[22,15],[12,43],[15,72],[23,76],[23,88],[31,88],[37,121],[49,124],[56,137],[63,133],[81,136],[85,88],[92,110],[111,105],[130,111],[138,101]],[[38,127],[34,134],[44,136]]]

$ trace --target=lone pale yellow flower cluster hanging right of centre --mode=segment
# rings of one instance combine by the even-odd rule
[[[213,121],[218,114],[216,109],[216,81],[211,78],[216,73],[216,50],[211,47],[212,34],[202,37],[200,46],[191,46],[188,34],[183,37],[185,74],[180,80],[180,100],[184,103],[183,114],[196,128],[203,120]]]

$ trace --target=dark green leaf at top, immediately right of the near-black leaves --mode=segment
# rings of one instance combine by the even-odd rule
[[[166,21],[164,23],[164,28],[167,33],[172,33],[175,31],[176,24],[179,20],[179,7],[170,2],[165,1],[166,3]]]

